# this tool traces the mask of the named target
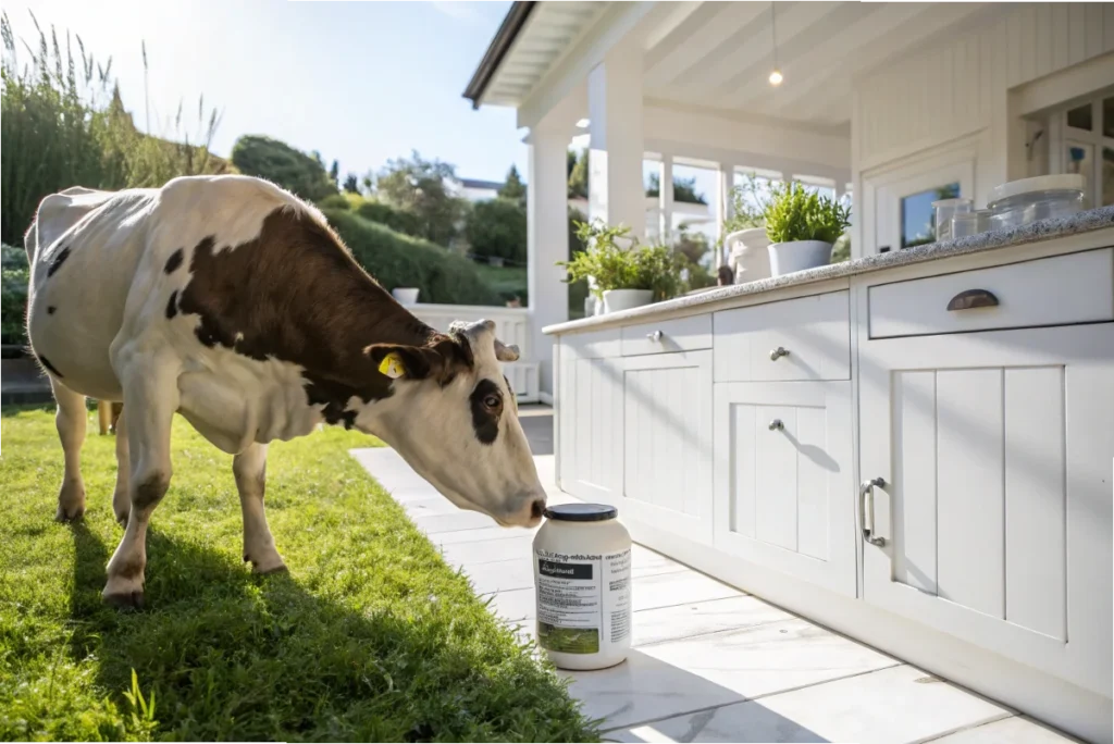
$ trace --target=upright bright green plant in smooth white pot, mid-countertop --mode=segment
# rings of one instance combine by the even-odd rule
[[[763,214],[772,275],[827,265],[832,244],[851,224],[849,216],[844,205],[801,184],[774,186]]]

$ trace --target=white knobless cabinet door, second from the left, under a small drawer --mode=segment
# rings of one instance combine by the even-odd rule
[[[620,515],[712,542],[712,352],[624,360]]]

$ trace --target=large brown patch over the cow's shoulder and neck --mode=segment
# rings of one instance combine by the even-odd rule
[[[198,316],[195,333],[206,346],[302,366],[306,399],[324,407],[329,423],[353,424],[355,412],[345,410],[353,397],[391,394],[392,380],[364,352],[370,346],[408,350],[413,376],[441,379],[466,359],[467,343],[410,314],[306,214],[275,209],[255,239],[223,249],[218,239],[194,248],[178,310]]]

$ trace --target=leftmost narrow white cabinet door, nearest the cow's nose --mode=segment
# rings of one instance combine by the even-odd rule
[[[563,344],[559,365],[561,489],[617,507],[623,483],[622,360],[586,359]]]

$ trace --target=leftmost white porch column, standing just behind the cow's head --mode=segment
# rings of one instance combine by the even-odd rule
[[[529,146],[526,178],[527,304],[530,309],[529,359],[538,362],[543,393],[553,395],[553,337],[541,329],[568,320],[568,178],[565,153],[569,137],[564,131],[535,129]]]

